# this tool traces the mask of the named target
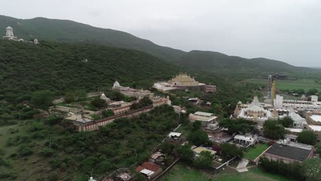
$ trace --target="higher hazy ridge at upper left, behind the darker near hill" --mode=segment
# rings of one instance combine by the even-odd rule
[[[162,47],[114,29],[104,29],[77,23],[69,20],[58,19],[15,19],[0,15],[0,31],[5,34],[5,27],[12,27],[14,34],[28,40],[38,38],[41,40],[55,40],[64,43],[91,43],[98,45],[109,45],[126,49],[144,51],[164,60],[173,60],[185,53],[178,49]]]

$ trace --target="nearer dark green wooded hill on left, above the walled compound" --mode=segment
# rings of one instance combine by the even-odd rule
[[[132,86],[167,80],[178,72],[147,53],[101,45],[0,40],[0,52],[0,95],[5,97],[45,89],[58,95],[76,88],[97,90],[115,80]]]

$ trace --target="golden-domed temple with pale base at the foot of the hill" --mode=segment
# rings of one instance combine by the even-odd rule
[[[171,90],[203,90],[207,93],[215,93],[216,91],[215,85],[200,83],[187,73],[180,73],[168,82],[157,82],[153,87],[165,93]]]

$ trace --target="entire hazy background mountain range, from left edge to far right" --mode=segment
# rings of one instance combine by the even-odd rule
[[[0,16],[0,31],[5,34],[5,27],[14,28],[14,34],[26,40],[38,38],[64,43],[97,44],[126,49],[135,49],[149,53],[160,59],[173,62],[187,70],[234,73],[298,73],[311,69],[294,67],[290,64],[265,58],[246,59],[237,56],[226,56],[213,51],[185,52],[169,47],[162,47],[113,29],[93,27],[75,21],[58,19],[14,19]],[[1,30],[2,29],[2,30]]]

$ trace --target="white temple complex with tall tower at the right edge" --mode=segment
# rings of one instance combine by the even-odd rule
[[[242,118],[250,121],[256,121],[259,128],[263,126],[266,120],[282,119],[291,117],[294,120],[292,128],[289,130],[287,138],[296,141],[296,134],[302,130],[312,130],[321,140],[321,101],[318,101],[317,95],[311,95],[311,101],[305,100],[287,100],[281,95],[276,95],[276,79],[283,80],[286,77],[281,75],[268,76],[268,95],[263,102],[259,102],[254,97],[252,103],[237,104],[234,111],[234,118]]]

